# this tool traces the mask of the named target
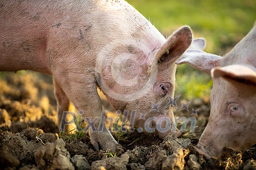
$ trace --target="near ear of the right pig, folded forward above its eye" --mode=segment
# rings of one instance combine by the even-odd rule
[[[249,65],[230,65],[212,69],[212,78],[222,77],[240,83],[256,85],[256,70]]]

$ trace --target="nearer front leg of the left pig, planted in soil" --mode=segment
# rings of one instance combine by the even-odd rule
[[[116,149],[118,142],[106,128],[104,120],[100,121],[102,105],[94,74],[58,71],[53,76],[87,121],[90,139],[95,149]]]

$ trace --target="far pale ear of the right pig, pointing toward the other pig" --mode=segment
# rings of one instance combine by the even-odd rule
[[[201,50],[188,50],[176,62],[176,64],[189,64],[192,67],[211,74],[213,67],[219,66],[222,57]]]

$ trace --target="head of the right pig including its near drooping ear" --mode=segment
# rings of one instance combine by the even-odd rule
[[[197,145],[207,158],[225,147],[244,151],[256,143],[256,69],[234,64],[212,69],[211,114]]]

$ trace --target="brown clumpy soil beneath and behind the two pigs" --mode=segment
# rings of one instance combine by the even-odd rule
[[[185,100],[185,99],[182,99]],[[104,109],[110,105],[103,101]],[[177,101],[179,104],[180,101]],[[197,128],[209,118],[208,101],[196,99]],[[190,117],[186,110],[177,117]],[[135,131],[112,133],[116,152],[96,151],[88,133],[59,133],[56,101],[50,76],[30,71],[0,73],[0,169],[4,170],[219,170],[256,169],[256,146],[244,152],[225,149],[218,159],[205,160],[195,152],[199,135],[160,140]]]

